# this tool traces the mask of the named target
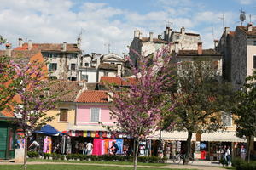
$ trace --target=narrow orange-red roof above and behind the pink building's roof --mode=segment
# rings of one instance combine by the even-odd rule
[[[135,78],[124,78],[124,77],[101,77],[100,84],[110,83],[118,86],[129,86],[136,83]]]

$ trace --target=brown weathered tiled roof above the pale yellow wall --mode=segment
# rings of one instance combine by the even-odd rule
[[[84,82],[68,81],[68,80],[55,80],[50,82],[50,93],[60,92],[58,99],[61,102],[74,102],[79,91],[83,88]]]

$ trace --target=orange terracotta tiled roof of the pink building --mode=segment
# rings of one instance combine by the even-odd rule
[[[102,90],[84,90],[76,102],[81,103],[108,103],[108,92]]]

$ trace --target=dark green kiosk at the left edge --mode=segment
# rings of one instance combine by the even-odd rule
[[[13,119],[0,111],[0,160],[15,158],[16,126],[10,122]]]

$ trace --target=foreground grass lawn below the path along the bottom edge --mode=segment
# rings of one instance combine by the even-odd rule
[[[27,170],[132,170],[133,167],[102,167],[91,165],[28,165]],[[22,170],[21,165],[0,165],[1,170]],[[137,170],[172,170],[159,168],[137,167]],[[176,169],[177,170],[177,169]],[[183,169],[180,169],[183,170]]]

